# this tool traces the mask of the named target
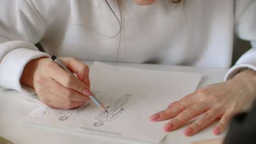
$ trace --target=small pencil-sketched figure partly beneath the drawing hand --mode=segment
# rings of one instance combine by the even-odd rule
[[[79,106],[79,107],[77,107],[76,109],[73,109],[73,110],[63,110],[63,111],[61,111],[60,113],[63,116],[59,117],[59,120],[60,121],[65,121],[70,116],[78,116],[82,111],[86,110],[91,105],[89,102],[90,101],[88,101],[86,104],[81,105],[81,106]]]

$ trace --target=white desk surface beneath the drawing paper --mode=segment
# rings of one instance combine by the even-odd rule
[[[92,62],[85,62],[89,66]],[[178,67],[170,65],[155,64],[125,64],[133,68],[142,68],[150,70],[164,71],[188,71],[203,74],[199,87],[223,81],[223,77],[228,69],[220,68],[195,68],[195,67]],[[38,125],[31,125],[19,122],[19,118],[30,111],[30,107],[20,103],[21,93],[16,91],[0,91],[0,135],[17,144],[45,144],[45,143],[141,143],[130,140],[115,139],[113,137],[102,137],[90,134],[76,133],[71,131],[63,131],[54,128],[47,128]],[[152,113],[153,114],[153,113]],[[175,131],[182,134],[185,127]],[[183,139],[176,139],[172,136],[172,132],[168,133],[162,143],[191,143],[197,140],[205,140],[216,138],[211,133],[213,124],[202,130],[194,136],[183,136]],[[223,136],[224,134],[222,134]]]

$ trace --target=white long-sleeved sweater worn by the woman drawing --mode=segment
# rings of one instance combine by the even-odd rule
[[[109,4],[120,19],[117,2]],[[116,61],[119,39],[119,62],[229,68],[237,34],[253,48],[225,80],[243,67],[256,70],[255,0],[159,0],[146,6],[124,0],[121,10],[120,38],[103,0],[1,0],[0,89],[27,92],[19,82],[26,63],[49,54]],[[46,53],[33,45],[38,42]]]

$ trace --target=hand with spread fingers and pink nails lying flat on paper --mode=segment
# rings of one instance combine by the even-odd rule
[[[228,81],[197,89],[149,119],[163,121],[172,118],[163,130],[173,131],[202,114],[183,131],[184,135],[191,136],[220,118],[212,130],[213,134],[218,135],[227,127],[232,116],[251,107],[255,97],[256,71],[245,70]]]

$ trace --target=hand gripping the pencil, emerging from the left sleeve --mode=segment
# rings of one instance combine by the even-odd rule
[[[73,109],[90,100],[89,68],[76,58],[62,57],[60,61],[77,74],[78,79],[50,58],[43,57],[26,64],[20,82],[34,88],[46,105],[57,109]]]

